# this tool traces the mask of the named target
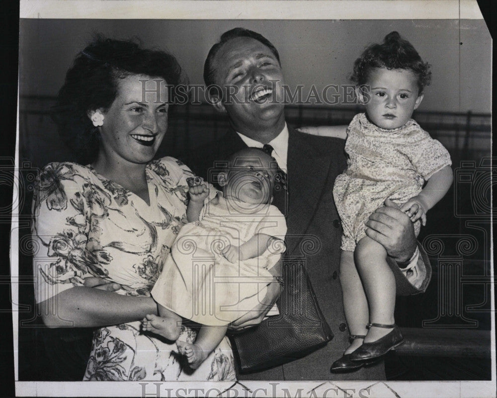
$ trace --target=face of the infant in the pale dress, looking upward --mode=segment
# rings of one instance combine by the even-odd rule
[[[226,197],[251,204],[271,203],[276,166],[269,155],[246,150],[230,162],[226,175]]]

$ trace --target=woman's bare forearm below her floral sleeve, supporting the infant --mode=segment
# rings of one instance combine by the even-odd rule
[[[157,305],[151,297],[76,286],[39,303],[38,314],[48,327],[95,327],[141,320],[157,314]]]

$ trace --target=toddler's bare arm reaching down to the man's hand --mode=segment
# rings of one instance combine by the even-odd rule
[[[426,225],[426,212],[442,199],[452,185],[452,168],[445,166],[434,173],[419,195],[413,196],[401,207],[401,211],[411,217],[411,221],[421,219]]]

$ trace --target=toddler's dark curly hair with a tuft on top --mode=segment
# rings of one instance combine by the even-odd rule
[[[408,69],[417,77],[418,94],[430,83],[430,65],[423,62],[415,48],[398,32],[390,32],[382,44],[372,44],[354,62],[350,76],[357,85],[366,84],[371,70],[375,68]]]

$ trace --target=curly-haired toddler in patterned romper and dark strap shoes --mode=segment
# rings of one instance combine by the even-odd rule
[[[360,368],[404,342],[394,320],[396,285],[387,252],[366,236],[364,224],[390,199],[411,218],[417,236],[426,212],[452,184],[447,150],[411,119],[429,69],[411,43],[389,33],[354,63],[351,80],[366,113],[346,131],[313,131],[347,140],[347,168],[335,180],[333,197],[343,226],[340,283],[351,345],[332,372]]]

